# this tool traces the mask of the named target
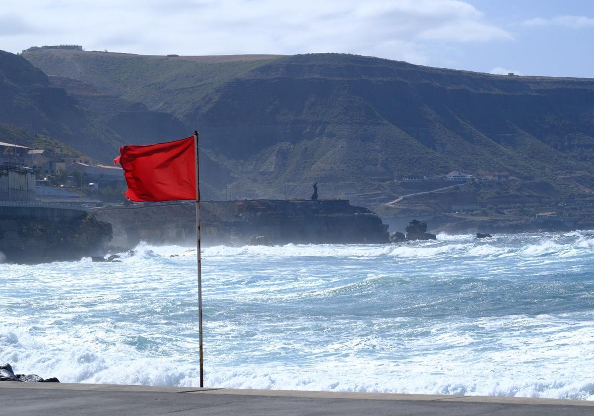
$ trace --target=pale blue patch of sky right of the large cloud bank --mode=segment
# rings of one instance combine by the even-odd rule
[[[484,13],[489,24],[510,33],[513,40],[457,45],[461,53],[456,68],[490,72],[500,67],[525,75],[594,77],[594,1],[469,3]]]

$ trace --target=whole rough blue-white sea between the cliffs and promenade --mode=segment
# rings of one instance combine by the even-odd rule
[[[197,386],[195,250],[137,250],[0,264],[0,361]],[[203,298],[208,387],[594,399],[590,232],[210,247]]]

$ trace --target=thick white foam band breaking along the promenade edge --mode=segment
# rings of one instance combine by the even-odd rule
[[[3,358],[11,361],[15,372],[27,373],[34,369],[42,376],[57,376],[62,382],[190,387],[198,386],[200,381],[197,365],[179,358],[124,358],[115,351],[83,347],[56,351],[34,341],[26,333],[5,328],[0,328],[0,347]],[[594,383],[587,371],[580,379],[570,376],[571,370],[568,373],[551,372],[542,365],[523,367],[522,371],[520,368],[514,371],[513,366],[508,365],[498,370],[497,365],[488,363],[488,357],[475,363],[452,362],[451,357],[443,354],[426,358],[410,363],[357,357],[329,358],[324,363],[296,367],[280,363],[230,366],[220,358],[207,355],[206,385],[241,389],[594,399]]]

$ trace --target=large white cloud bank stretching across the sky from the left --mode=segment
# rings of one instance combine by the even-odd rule
[[[459,0],[4,0],[11,52],[77,43],[146,54],[345,52],[427,64],[444,43],[513,39]],[[39,30],[43,30],[43,36]]]

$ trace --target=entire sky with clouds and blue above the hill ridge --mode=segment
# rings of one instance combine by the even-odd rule
[[[0,49],[152,55],[345,52],[593,77],[592,0],[0,0]]]

